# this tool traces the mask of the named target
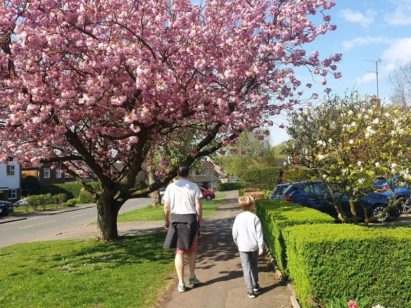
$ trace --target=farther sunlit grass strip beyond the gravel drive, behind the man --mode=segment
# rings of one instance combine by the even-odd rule
[[[201,200],[202,217],[212,216],[218,207],[222,204],[221,200],[205,201]],[[163,220],[163,206],[146,206],[138,208],[127,213],[120,214],[117,222],[142,221],[142,220]]]

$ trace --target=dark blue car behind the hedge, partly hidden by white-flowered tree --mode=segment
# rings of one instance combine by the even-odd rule
[[[334,196],[337,197],[335,193]],[[322,181],[293,183],[287,190],[287,194],[283,197],[283,199],[314,208],[330,215],[331,217],[338,218],[338,214],[334,206],[327,204],[325,201],[325,199],[328,199],[329,202],[333,202],[327,186],[324,185]],[[389,197],[379,192],[371,192],[368,196],[362,197],[360,201],[365,204],[368,216],[377,216],[388,206]],[[341,206],[345,214],[348,217],[352,217],[348,197],[345,195],[341,199]],[[359,218],[365,218],[365,213],[361,204],[357,204],[356,211]],[[400,208],[395,206],[391,208],[387,214],[378,219],[378,221],[385,222],[390,216],[398,217],[400,215]]]

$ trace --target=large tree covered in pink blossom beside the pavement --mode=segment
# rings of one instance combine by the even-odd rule
[[[340,54],[304,44],[334,30],[326,0],[8,0],[0,5],[0,162],[54,162],[98,208],[99,238],[117,237],[130,197],[176,176],[162,156],[157,180],[135,189],[150,152],[195,159],[273,125],[302,95],[295,67],[325,84]],[[315,15],[315,16],[313,16]],[[307,85],[310,86],[310,85]],[[300,91],[300,92],[297,92]],[[311,95],[311,94],[310,94]],[[114,164],[121,162],[119,170]],[[98,180],[98,194],[76,170]],[[91,172],[92,171],[92,172]]]

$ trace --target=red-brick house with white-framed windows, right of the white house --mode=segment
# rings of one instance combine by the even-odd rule
[[[31,167],[23,167],[22,175],[34,176],[39,179],[40,184],[63,184],[66,182],[65,173],[62,169],[51,168],[52,163],[35,164]]]

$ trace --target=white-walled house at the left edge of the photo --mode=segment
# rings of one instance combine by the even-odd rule
[[[16,202],[22,194],[20,165],[9,162],[0,164],[0,200]]]

